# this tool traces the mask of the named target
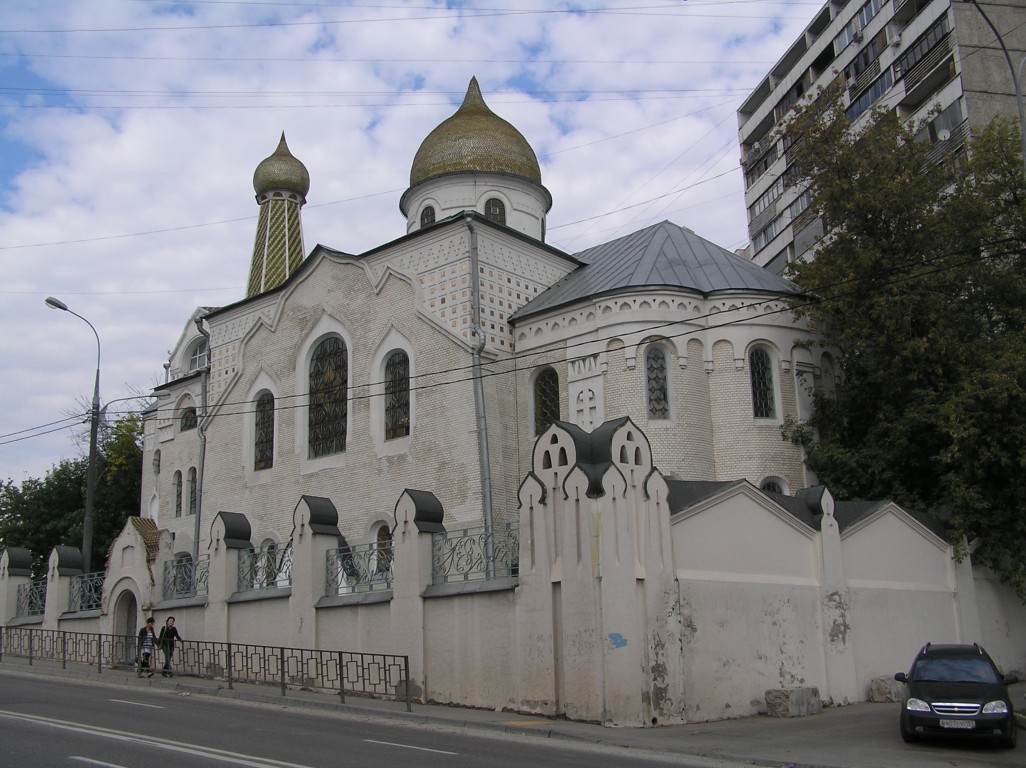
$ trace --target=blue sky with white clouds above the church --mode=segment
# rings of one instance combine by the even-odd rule
[[[417,149],[474,76],[538,154],[550,245],[669,219],[744,248],[737,110],[821,6],[0,0],[0,482],[85,454],[96,336],[115,418],[194,309],[244,297],[283,131],[308,253],[405,234]]]

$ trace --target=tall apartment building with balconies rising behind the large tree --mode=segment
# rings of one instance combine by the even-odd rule
[[[1024,54],[1026,0],[824,4],[738,110],[748,256],[780,273],[823,233],[796,184],[790,140],[776,131],[799,99],[840,79],[855,124],[873,108],[894,110],[940,157],[995,115],[1018,119],[1013,71]]]

